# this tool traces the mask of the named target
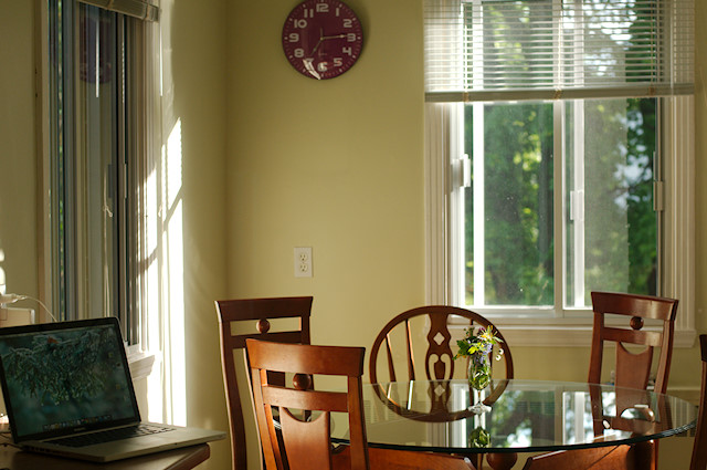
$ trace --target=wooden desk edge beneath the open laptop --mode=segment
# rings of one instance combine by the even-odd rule
[[[189,470],[211,455],[208,443],[108,463],[84,462],[0,446],[0,470]]]

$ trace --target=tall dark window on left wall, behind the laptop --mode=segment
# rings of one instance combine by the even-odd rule
[[[147,38],[157,9],[140,1],[114,1],[110,11],[89,3],[48,3],[48,285],[59,318],[118,316],[126,340],[138,343]]]

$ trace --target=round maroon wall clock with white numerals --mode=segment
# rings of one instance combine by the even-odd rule
[[[356,63],[362,45],[361,22],[339,0],[306,0],[283,27],[285,56],[310,79],[339,76]]]

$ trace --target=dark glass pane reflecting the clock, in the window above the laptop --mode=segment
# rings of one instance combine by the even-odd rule
[[[84,253],[80,272],[88,315],[117,315],[118,118],[122,80],[117,73],[117,14],[80,4],[76,200],[85,229],[77,232]]]

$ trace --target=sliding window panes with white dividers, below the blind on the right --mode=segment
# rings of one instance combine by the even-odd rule
[[[656,102],[464,106],[473,155],[469,187],[460,189],[466,305],[583,309],[591,290],[656,293]]]

